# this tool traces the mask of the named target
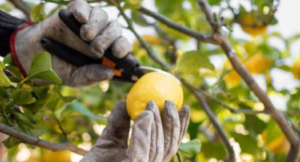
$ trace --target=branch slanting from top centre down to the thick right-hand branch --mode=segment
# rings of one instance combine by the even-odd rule
[[[164,25],[167,25],[168,27],[178,30],[179,32],[182,32],[186,35],[189,35],[191,37],[194,37],[196,39],[199,39],[202,42],[208,42],[211,44],[216,44],[215,39],[212,37],[212,35],[203,35],[201,32],[198,32],[196,30],[192,30],[188,27],[185,27],[184,25],[181,25],[179,23],[175,23],[172,20],[169,20],[169,18],[165,17],[164,15],[160,15],[159,13],[152,12],[148,10],[147,8],[140,8],[140,12],[144,13],[145,15],[149,15],[152,18],[155,18],[156,20],[160,21],[160,23],[163,23]]]

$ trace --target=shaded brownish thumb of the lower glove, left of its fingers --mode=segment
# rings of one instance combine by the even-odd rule
[[[81,161],[121,161],[126,156],[129,129],[130,118],[126,112],[126,103],[118,102],[108,117],[107,127],[102,135]],[[109,156],[109,154],[119,156]]]

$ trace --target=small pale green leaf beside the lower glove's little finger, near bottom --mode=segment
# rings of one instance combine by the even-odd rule
[[[196,155],[200,152],[201,143],[199,139],[193,139],[184,144],[180,144],[179,150],[187,154]]]

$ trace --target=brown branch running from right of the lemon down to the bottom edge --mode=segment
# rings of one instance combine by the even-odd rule
[[[188,88],[188,90],[196,96],[196,99],[198,100],[199,104],[202,106],[205,113],[208,115],[208,118],[210,118],[210,122],[214,127],[216,128],[218,134],[221,137],[221,140],[223,144],[225,145],[225,148],[227,150],[227,153],[229,154],[229,161],[236,161],[234,149],[232,145],[229,143],[229,139],[227,135],[225,134],[222,126],[220,123],[218,123],[217,118],[215,117],[215,114],[212,112],[210,106],[208,105],[208,101],[206,101],[205,97],[201,92],[198,92],[197,89],[194,89],[191,87],[186,81],[181,80],[181,82]]]

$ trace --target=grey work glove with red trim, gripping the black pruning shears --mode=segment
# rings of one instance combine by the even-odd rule
[[[101,8],[90,8],[86,1],[75,0],[68,4],[68,10],[83,24],[80,27],[80,37],[66,27],[58,12],[41,23],[26,27],[16,35],[16,54],[27,73],[33,56],[44,51],[40,43],[42,37],[54,39],[96,59],[102,57],[111,45],[116,58],[124,58],[131,51],[128,40],[121,37],[121,25],[117,21],[109,22],[107,13]],[[90,42],[90,45],[83,40]],[[76,67],[54,55],[52,66],[63,84],[70,86],[90,85],[100,80],[112,79],[114,75],[112,69],[100,64]]]

